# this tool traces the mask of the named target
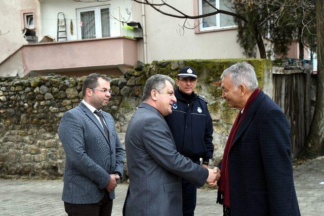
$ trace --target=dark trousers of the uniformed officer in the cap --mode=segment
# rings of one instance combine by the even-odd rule
[[[193,161],[200,164],[200,160]],[[182,213],[183,216],[192,216],[196,208],[197,186],[182,179]]]

